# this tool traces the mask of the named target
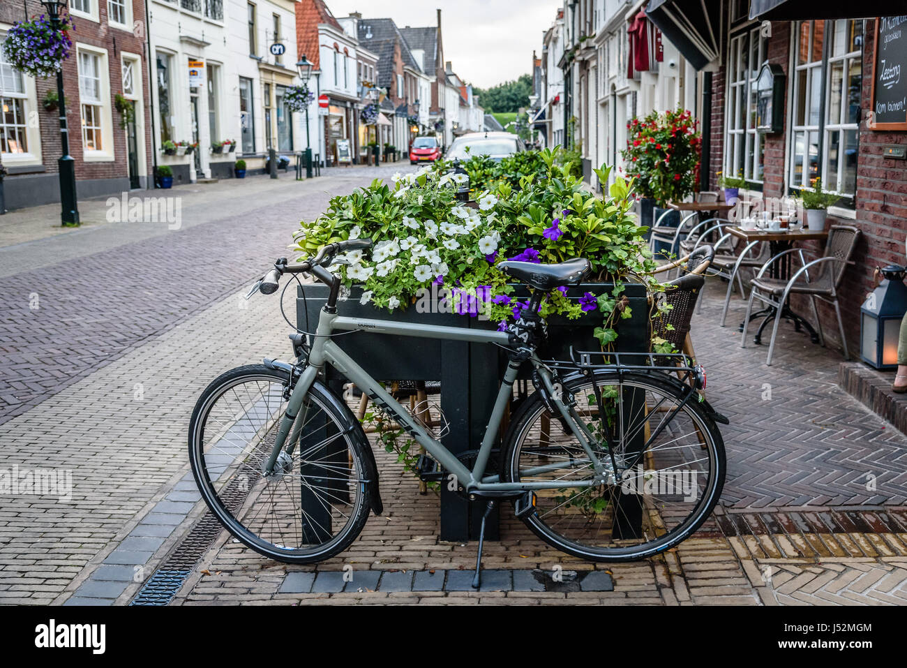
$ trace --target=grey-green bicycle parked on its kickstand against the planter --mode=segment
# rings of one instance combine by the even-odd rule
[[[346,549],[369,512],[382,513],[375,456],[351,409],[321,379],[327,365],[424,447],[418,465],[424,479],[447,481],[468,500],[486,504],[473,586],[480,582],[485,519],[505,500],[541,540],[598,562],[658,554],[702,525],[724,484],[716,422],[727,423],[702,395],[704,369],[684,355],[590,351],[557,361],[536,354],[545,333],[541,300],[582,280],[588,260],[500,263],[532,288],[532,297],[508,331],[496,331],[340,315],[340,277],[327,266],[341,251],[370,245],[340,241],[297,265],[278,260],[248,296],[274,293],[284,274],[313,276],[329,287],[316,331],[290,335],[296,363],[264,359],[234,368],[212,381],[195,406],[192,473],[211,512],[240,542],[278,561],[313,563]],[[486,342],[507,350],[472,467],[333,338],[352,331]],[[495,437],[526,364],[535,391],[514,411],[495,462]]]

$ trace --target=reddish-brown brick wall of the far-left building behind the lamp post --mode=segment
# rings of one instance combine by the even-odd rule
[[[0,22],[15,24],[25,19],[25,9],[28,18],[44,15],[44,7],[38,0],[25,0],[23,2],[0,3]],[[147,43],[145,33],[145,0],[132,0],[132,19],[134,29],[132,32],[112,28],[108,25],[108,7],[106,2],[98,3],[100,22],[94,22],[81,16],[72,16],[74,30],[70,31],[73,50],[70,57],[63,62],[63,92],[66,101],[66,119],[69,127],[70,155],[75,161],[76,187],[80,197],[97,194],[116,193],[129,189],[129,167],[126,150],[126,133],[120,127],[120,113],[113,106],[113,99],[117,93],[122,94],[122,64],[121,54],[127,52],[141,56],[141,66],[134,72],[135,82],[141,82],[141,105],[143,108],[144,123],[142,136],[137,137],[137,142],[144,142],[144,155],[146,174],[151,174],[151,94],[148,83]],[[79,71],[76,43],[106,49],[108,75],[111,95],[111,120],[113,157],[108,162],[85,162],[83,160],[82,121],[79,98]],[[42,105],[44,95],[56,91],[56,77],[35,80],[38,123],[41,130],[42,168],[19,168],[5,182],[7,201],[15,206],[16,189],[28,192],[30,197],[28,205],[48,203],[60,200],[59,182],[48,179],[48,175],[55,174],[57,160],[60,158],[60,124],[59,110],[47,111]],[[37,180],[37,181],[36,181]],[[40,182],[39,187],[35,187]],[[38,191],[44,198],[34,201],[32,193]],[[21,198],[18,198],[21,199]]]

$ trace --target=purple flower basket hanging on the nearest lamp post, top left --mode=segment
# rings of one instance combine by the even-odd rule
[[[6,62],[34,77],[57,74],[73,51],[68,34],[72,27],[68,16],[60,20],[58,30],[44,15],[13,25],[3,44]]]

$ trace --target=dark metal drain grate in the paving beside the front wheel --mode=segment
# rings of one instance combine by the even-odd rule
[[[247,489],[243,489],[243,486]],[[230,481],[220,498],[229,512],[234,513],[248,494],[248,485],[241,484],[237,476]],[[223,530],[224,527],[217,517],[213,516],[210,510],[206,511],[168,555],[161,567],[142,585],[130,605],[169,604],[192,573],[192,569],[199,563],[201,556],[208,551]]]

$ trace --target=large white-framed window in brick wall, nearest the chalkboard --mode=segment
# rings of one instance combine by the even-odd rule
[[[822,177],[823,190],[853,197],[863,21],[802,21],[795,41],[791,188]]]

